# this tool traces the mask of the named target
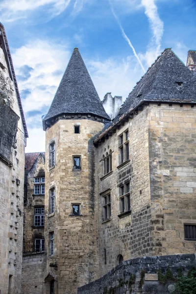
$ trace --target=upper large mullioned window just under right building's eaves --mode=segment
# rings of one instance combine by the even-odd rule
[[[119,162],[122,164],[129,159],[129,138],[128,130],[119,136]]]

